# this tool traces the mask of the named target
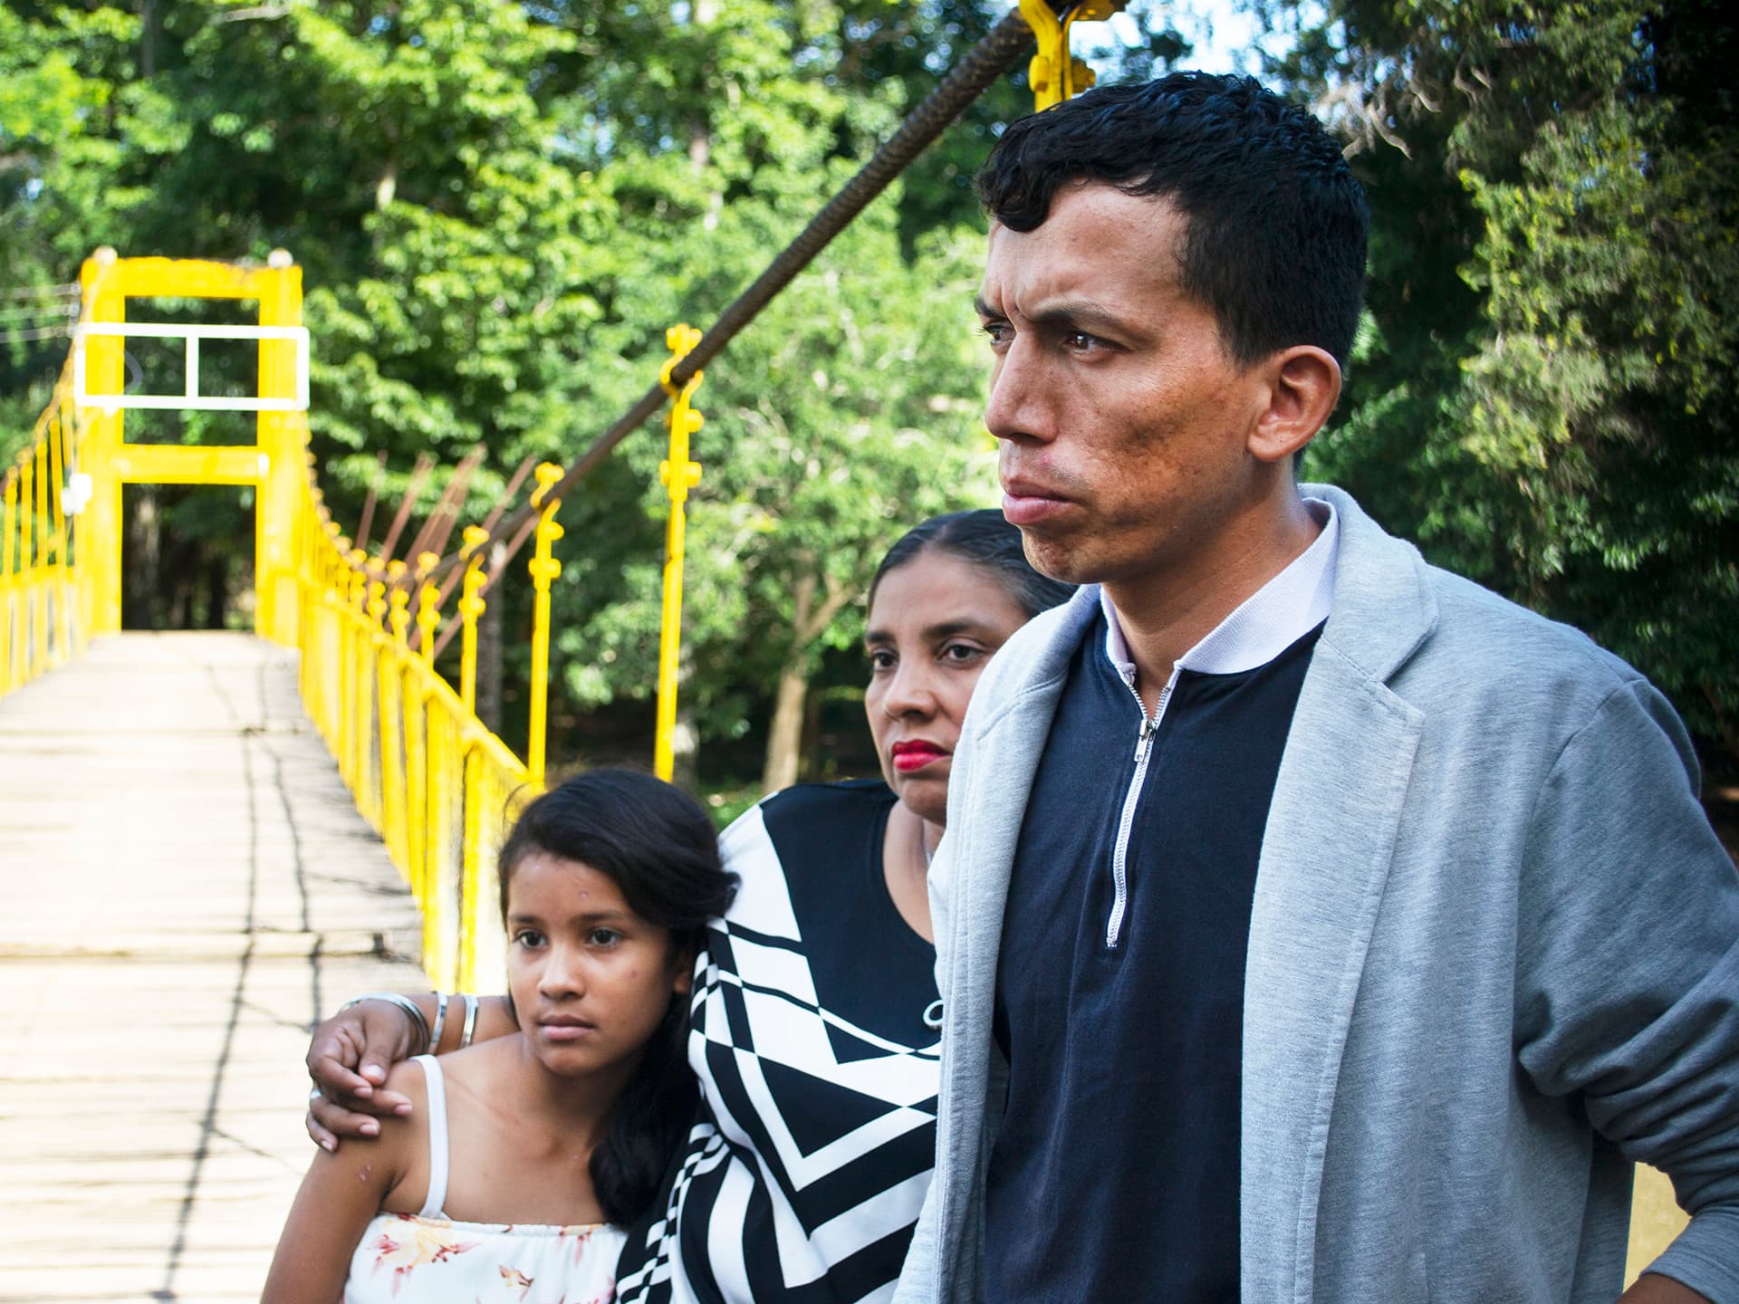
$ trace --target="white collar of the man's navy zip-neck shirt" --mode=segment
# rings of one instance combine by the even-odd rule
[[[1341,520],[1334,504],[1320,497],[1304,499],[1311,516],[1322,525],[1316,541],[1292,558],[1290,565],[1245,598],[1231,615],[1177,657],[1181,669],[1202,675],[1236,675],[1266,666],[1325,619],[1334,605],[1334,562],[1341,548]],[[1134,687],[1136,662],[1116,622],[1116,609],[1099,589],[1104,612],[1104,654],[1123,683]]]

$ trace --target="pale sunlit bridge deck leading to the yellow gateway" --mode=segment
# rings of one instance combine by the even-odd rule
[[[257,1299],[306,1033],[416,939],[294,654],[120,635],[0,699],[0,1301]]]

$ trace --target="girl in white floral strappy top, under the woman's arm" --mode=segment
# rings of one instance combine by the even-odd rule
[[[416,1109],[316,1154],[264,1304],[609,1301],[696,1109],[685,998],[732,895],[670,784],[598,770],[532,802],[501,852],[518,1031],[393,1069]]]

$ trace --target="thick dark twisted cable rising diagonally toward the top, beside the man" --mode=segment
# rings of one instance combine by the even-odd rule
[[[1057,3],[1057,0],[1052,0]],[[755,278],[743,294],[739,294],[718,320],[713,322],[711,329],[701,336],[701,343],[694,346],[676,367],[671,370],[671,384],[682,388],[689,379],[706,367],[708,362],[716,358],[725,344],[729,344],[755,316],[765,308],[772,297],[783,290],[791,280],[807,268],[816,256],[828,247],[828,243],[840,231],[850,224],[850,221],[870,207],[889,184],[897,177],[906,167],[915,160],[923,150],[941,136],[967,108],[988,90],[998,77],[1007,73],[1010,68],[1021,61],[1028,49],[1033,45],[1033,30],[1026,26],[1026,19],[1021,17],[1019,9],[1009,10],[1003,19],[989,30],[989,33],[974,45],[967,56],[955,64],[955,68],[944,77],[936,90],[923,97],[923,101],[911,113],[899,129],[882,143],[882,146],[871,155],[870,162],[864,163],[857,174],[845,183],[845,186],[823,205],[791,243],[788,243],[767,269]],[[635,429],[645,424],[647,417],[663,409],[670,402],[670,395],[664,391],[663,384],[652,384],[650,389],[642,395],[640,402],[635,403],[628,412],[617,417],[596,442],[586,449],[556,480],[555,487],[550,490],[550,497],[560,499],[567,492],[584,480],[591,471],[603,464],[603,461],[616,452],[616,445],[628,438]],[[492,530],[492,537],[511,536],[527,520],[534,520],[537,509],[532,506],[522,506],[518,511],[511,513],[506,520],[499,523],[497,530]],[[445,574],[447,569],[457,567],[459,558],[450,556],[442,563],[440,572]]]

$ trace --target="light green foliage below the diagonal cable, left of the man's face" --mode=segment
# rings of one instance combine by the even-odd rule
[[[696,395],[708,424],[689,502],[690,695],[713,737],[741,735],[772,701],[772,788],[796,777],[807,683],[826,649],[859,640],[857,598],[880,555],[923,516],[993,496],[969,308],[979,243],[925,242],[908,264],[892,217],[880,210],[847,231]],[[751,254],[756,235],[727,216],[708,249]],[[645,529],[623,570],[607,572],[621,600],[563,631],[576,701],[654,687],[643,668],[657,654],[663,456],[659,440],[624,449],[645,485]]]

